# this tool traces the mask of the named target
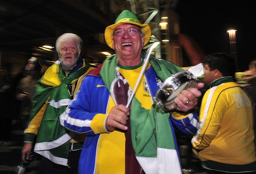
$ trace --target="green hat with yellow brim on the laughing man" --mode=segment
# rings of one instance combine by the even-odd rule
[[[105,40],[109,47],[112,47],[112,33],[115,28],[122,24],[132,24],[137,25],[142,28],[143,33],[145,34],[144,46],[148,43],[151,36],[151,29],[148,24],[141,24],[137,16],[129,10],[124,10],[116,18],[115,24],[107,26],[105,29]]]

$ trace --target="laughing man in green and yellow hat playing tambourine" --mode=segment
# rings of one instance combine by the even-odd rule
[[[150,56],[132,97],[146,57],[142,47],[150,36],[149,25],[128,10],[106,28],[106,42],[116,54],[87,74],[66,110],[64,126],[88,135],[79,173],[181,174],[174,127],[190,136],[196,133],[198,117],[190,111],[201,92],[182,91],[175,99],[178,108],[162,112],[152,98],[166,78],[182,69]]]

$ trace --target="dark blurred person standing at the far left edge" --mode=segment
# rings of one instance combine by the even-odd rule
[[[0,71],[0,145],[9,146],[12,119],[15,115],[13,80],[10,76],[11,64],[5,62]]]

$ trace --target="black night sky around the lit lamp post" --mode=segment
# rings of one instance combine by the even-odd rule
[[[238,68],[242,72],[256,59],[256,9],[247,0],[179,0],[180,33],[191,36],[206,54],[230,53],[228,29],[236,29]]]

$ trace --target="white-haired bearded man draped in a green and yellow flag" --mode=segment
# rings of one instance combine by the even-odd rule
[[[23,162],[28,163],[35,143],[34,152],[43,156],[45,174],[77,173],[85,136],[72,134],[60,121],[84,76],[92,69],[80,57],[81,43],[81,38],[73,33],[64,33],[56,40],[59,60],[37,82],[32,98],[21,155]]]

